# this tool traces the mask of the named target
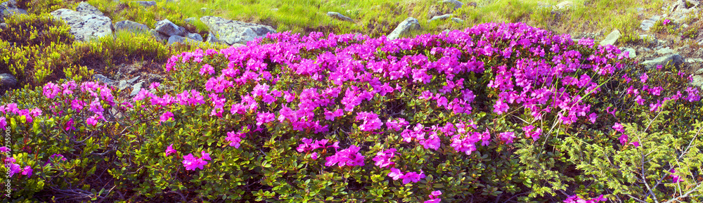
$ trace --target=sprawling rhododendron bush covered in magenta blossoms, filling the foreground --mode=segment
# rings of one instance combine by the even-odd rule
[[[624,55],[519,23],[396,40],[269,34],[174,55],[169,79],[131,98],[74,81],[10,93],[4,169],[23,188],[13,197],[39,199],[703,195],[699,90]]]

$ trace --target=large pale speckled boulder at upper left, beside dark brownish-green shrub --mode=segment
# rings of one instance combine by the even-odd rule
[[[76,41],[88,41],[112,35],[112,30],[115,30],[110,18],[98,11],[98,8],[85,2],[81,2],[76,11],[61,8],[51,12],[51,15],[65,21],[66,25],[71,27],[70,32]]]

